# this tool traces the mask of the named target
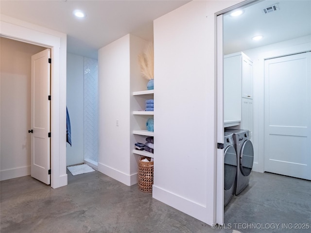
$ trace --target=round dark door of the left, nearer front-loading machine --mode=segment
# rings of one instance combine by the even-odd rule
[[[237,174],[237,153],[233,146],[228,146],[225,149],[225,167],[224,167],[224,187],[229,190],[235,181]]]

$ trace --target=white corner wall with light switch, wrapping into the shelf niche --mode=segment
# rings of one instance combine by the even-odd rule
[[[132,153],[132,111],[137,107],[132,93],[147,89],[138,65],[138,54],[146,45],[127,34],[99,50],[98,170],[126,185],[137,183],[138,156]]]

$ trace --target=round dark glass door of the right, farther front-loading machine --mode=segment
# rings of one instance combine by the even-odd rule
[[[253,168],[254,148],[250,140],[243,143],[240,154],[240,170],[243,176],[248,176]]]

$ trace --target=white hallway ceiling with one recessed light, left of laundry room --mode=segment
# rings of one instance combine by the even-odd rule
[[[66,33],[70,53],[97,59],[97,50],[132,33],[153,40],[153,20],[190,0],[0,0],[0,13]],[[86,18],[73,16],[83,10]]]

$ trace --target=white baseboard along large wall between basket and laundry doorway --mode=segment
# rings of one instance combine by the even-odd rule
[[[156,185],[153,185],[152,187],[152,197],[187,215],[197,218],[202,222],[209,225],[213,224],[213,220],[208,219],[210,209],[212,209],[213,206],[210,206],[209,209],[207,209],[207,207],[202,204],[187,200]]]

